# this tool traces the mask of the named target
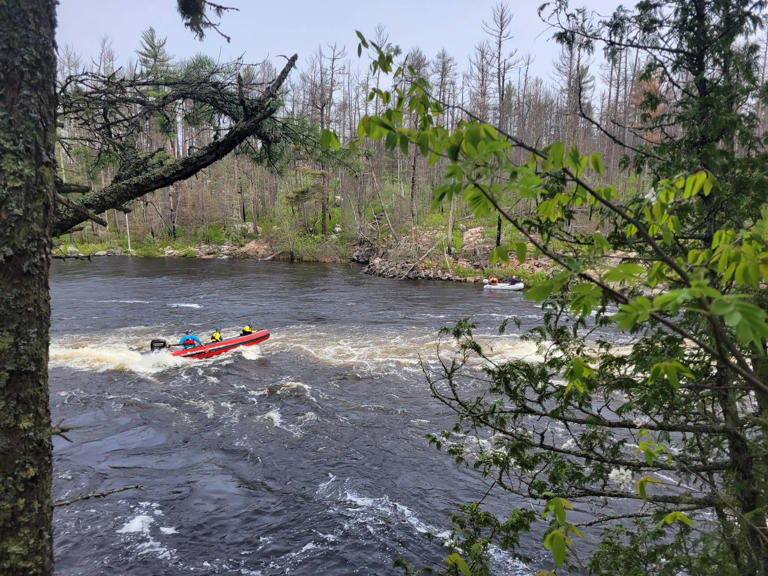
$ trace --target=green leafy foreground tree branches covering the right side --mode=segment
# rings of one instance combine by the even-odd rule
[[[600,154],[574,142],[539,147],[480,119],[441,127],[448,110],[426,80],[375,92],[390,105],[362,119],[361,135],[447,159],[435,202],[498,211],[520,240],[495,257],[559,267],[527,292],[542,307],[542,325],[523,335],[536,360],[499,359],[465,320],[443,332],[452,344],[428,371],[458,416],[430,442],[514,495],[506,516],[462,507],[450,573],[488,573],[482,552],[530,529],[558,573],[768,574],[764,8],[641,2],[594,22],[566,2],[542,7],[566,46],[642,55],[641,123],[599,126],[652,174],[625,194],[605,181]],[[374,70],[405,73],[359,36]],[[639,145],[622,140],[629,131]],[[532,209],[513,217],[521,201]],[[589,232],[572,226],[584,208]]]

